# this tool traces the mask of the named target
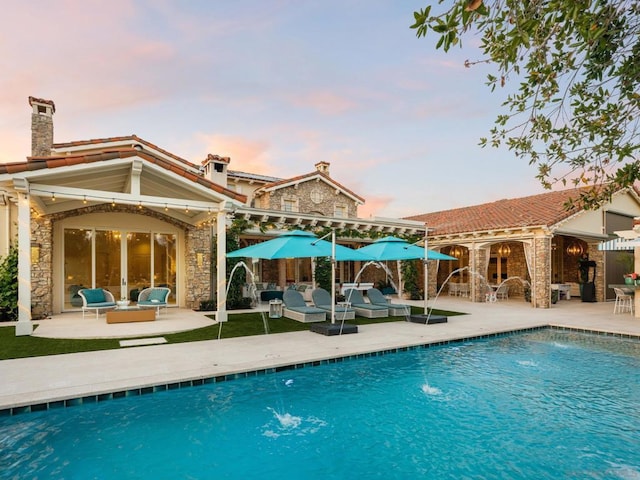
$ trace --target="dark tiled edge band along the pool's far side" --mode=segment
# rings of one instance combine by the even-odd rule
[[[320,365],[341,363],[349,360],[377,357],[377,356],[389,355],[389,354],[399,353],[399,352],[407,352],[407,351],[413,351],[413,350],[438,347],[443,345],[463,343],[467,341],[498,338],[498,337],[504,337],[504,336],[514,335],[519,333],[527,333],[527,332],[540,331],[540,330],[567,331],[567,332],[584,333],[584,334],[640,341],[640,334],[611,332],[611,331],[602,330],[602,329],[581,328],[581,327],[572,327],[572,326],[565,326],[565,325],[553,325],[553,324],[537,325],[537,326],[516,328],[512,330],[495,331],[495,332],[483,333],[483,334],[477,334],[477,335],[467,335],[467,336],[459,336],[459,337],[453,337],[448,339],[433,340],[433,341],[418,343],[414,345],[405,345],[405,346],[391,347],[386,349],[375,349],[368,352],[331,356],[331,357],[320,359],[320,360],[310,360],[310,361],[299,362],[299,363],[294,362],[294,363],[287,363],[284,365],[277,365],[277,366],[266,367],[266,368],[247,369],[247,370],[242,370],[242,371],[237,371],[237,372],[227,373],[222,375],[190,378],[190,379],[184,379],[184,380],[173,381],[168,383],[159,383],[156,385],[145,385],[141,387],[127,388],[124,390],[114,390],[112,392],[99,392],[99,393],[89,394],[89,395],[71,396],[69,398],[62,398],[62,399],[57,398],[51,401],[17,404],[17,405],[9,406],[6,408],[1,408],[0,417],[9,417],[9,416],[15,416],[15,415],[20,415],[24,413],[35,413],[35,412],[42,412],[47,410],[59,409],[59,408],[79,406],[84,404],[99,403],[103,401],[116,400],[120,398],[137,397],[141,395],[148,395],[152,393],[177,390],[181,388],[189,388],[189,387],[196,387],[196,386],[202,386],[207,384],[221,383],[221,382],[227,382],[227,381],[232,381],[232,380],[237,380],[242,378],[260,376],[260,375],[269,375],[269,374],[288,371],[288,370],[298,370],[301,368],[309,368],[309,367],[316,367]]]

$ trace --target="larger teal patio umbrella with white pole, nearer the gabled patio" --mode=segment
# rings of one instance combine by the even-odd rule
[[[328,234],[327,234],[328,235]],[[227,257],[249,257],[274,260],[277,258],[310,258],[310,257],[330,257],[331,258],[331,323],[335,322],[336,304],[336,268],[335,261],[356,260],[366,262],[373,260],[360,250],[353,250],[348,247],[336,244],[335,232],[331,231],[331,242],[323,238],[316,237],[313,233],[302,230],[292,230],[282,235],[257,243],[249,247],[234,250],[227,253]]]

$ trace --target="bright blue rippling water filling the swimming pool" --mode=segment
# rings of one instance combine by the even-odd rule
[[[0,478],[640,479],[640,343],[542,330],[4,417]]]

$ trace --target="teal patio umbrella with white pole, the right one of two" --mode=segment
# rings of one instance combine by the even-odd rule
[[[429,288],[429,278],[427,275],[426,262],[427,260],[458,260],[456,257],[445,255],[444,253],[436,252],[435,250],[429,250],[427,248],[427,238],[424,239],[424,247],[418,247],[411,244],[406,240],[397,237],[384,237],[380,240],[376,240],[366,247],[358,249],[370,257],[373,257],[376,261],[385,260],[416,260],[422,258],[425,261],[424,272],[424,313],[427,314],[427,295]]]

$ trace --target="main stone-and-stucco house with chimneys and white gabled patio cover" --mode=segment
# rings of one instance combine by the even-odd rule
[[[231,171],[218,155],[193,163],[136,135],[56,143],[54,102],[29,97],[29,105],[31,156],[0,164],[0,256],[17,239],[19,335],[31,333],[32,318],[79,309],[83,287],[130,298],[168,286],[170,303],[183,308],[224,298],[234,219],[248,226],[245,244],[293,227],[424,233],[418,221],[358,218],[364,199],[333,180],[327,162],[275,178]],[[300,279],[290,267],[265,274],[284,286]]]

